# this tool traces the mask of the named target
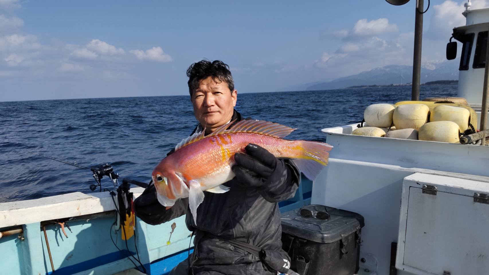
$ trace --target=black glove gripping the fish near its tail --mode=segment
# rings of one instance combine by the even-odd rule
[[[234,155],[236,165],[231,168],[238,184],[262,190],[282,190],[290,185],[290,170],[284,160],[256,144],[248,144],[245,150],[247,155]]]

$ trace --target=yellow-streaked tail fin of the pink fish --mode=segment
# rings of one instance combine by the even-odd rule
[[[304,175],[314,180],[321,170],[328,165],[329,151],[333,146],[317,141],[300,141],[299,156],[294,163]]]

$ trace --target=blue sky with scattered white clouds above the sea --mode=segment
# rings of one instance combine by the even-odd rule
[[[0,0],[0,101],[186,95],[202,58],[238,93],[410,65],[415,2]],[[463,4],[431,0],[423,62],[445,59]]]

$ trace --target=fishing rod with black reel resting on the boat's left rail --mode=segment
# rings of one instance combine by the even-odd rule
[[[58,162],[62,162],[62,163],[67,164],[67,165],[74,166],[76,168],[90,170],[92,172],[93,178],[97,182],[97,185],[95,185],[95,184],[91,184],[90,185],[90,190],[92,190],[92,191],[95,191],[95,189],[97,189],[97,187],[100,187],[100,192],[102,191],[102,184],[100,183],[100,181],[102,180],[102,177],[104,177],[104,176],[108,176],[111,179],[114,187],[117,187],[117,184],[116,184],[117,179],[122,180],[123,183],[124,182],[131,183],[131,184],[140,186],[142,188],[148,187],[148,184],[147,183],[140,182],[140,181],[137,181],[137,180],[132,180],[132,179],[129,179],[129,178],[123,178],[123,177],[119,176],[118,174],[116,174],[114,172],[114,169],[112,168],[111,164],[109,164],[109,163],[101,163],[99,165],[94,165],[94,166],[86,167],[86,166],[79,165],[76,162],[74,162],[74,163],[73,162],[68,162],[66,160],[62,160],[62,159],[59,159],[57,157],[53,157],[53,156],[46,155],[46,154],[43,154],[43,153],[35,153],[35,154],[37,154],[39,156],[42,156],[42,157],[45,157],[45,158],[48,158],[48,159],[52,159],[52,160],[58,161]]]

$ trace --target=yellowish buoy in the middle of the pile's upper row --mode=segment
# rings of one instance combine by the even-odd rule
[[[428,121],[429,108],[424,104],[400,105],[394,109],[392,120],[396,129],[419,130]]]

